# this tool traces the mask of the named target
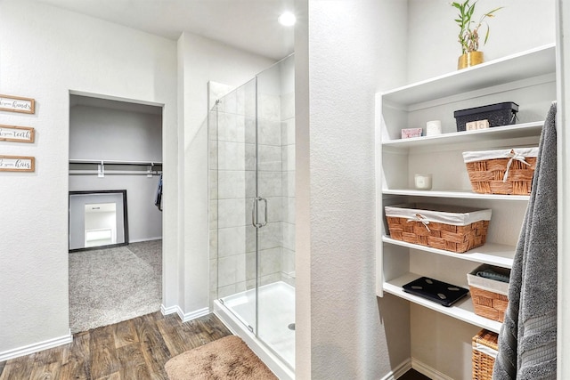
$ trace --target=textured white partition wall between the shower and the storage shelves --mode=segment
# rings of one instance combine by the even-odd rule
[[[410,355],[408,304],[374,287],[374,94],[405,80],[406,6],[297,2],[299,379],[377,379]]]

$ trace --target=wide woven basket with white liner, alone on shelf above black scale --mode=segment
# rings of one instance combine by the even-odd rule
[[[463,253],[485,244],[490,209],[405,204],[385,207],[390,237]]]

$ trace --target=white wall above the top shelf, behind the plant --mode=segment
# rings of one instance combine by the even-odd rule
[[[408,83],[436,77],[457,69],[461,55],[457,42],[460,28],[455,23],[458,10],[449,1],[408,0]],[[504,8],[488,18],[490,34],[483,44],[486,27],[479,32],[479,50],[492,61],[530,47],[554,42],[554,2],[542,0],[479,0],[473,19],[499,6]]]

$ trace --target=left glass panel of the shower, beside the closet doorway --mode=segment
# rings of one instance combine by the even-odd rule
[[[256,331],[256,80],[226,94],[213,109],[217,185],[217,295]],[[212,129],[215,130],[212,133]],[[253,289],[253,290],[252,290]]]

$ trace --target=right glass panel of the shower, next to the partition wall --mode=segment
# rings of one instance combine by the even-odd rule
[[[257,336],[295,361],[295,97],[293,57],[257,75]],[[266,202],[265,202],[266,199]],[[265,211],[264,211],[265,212]]]

